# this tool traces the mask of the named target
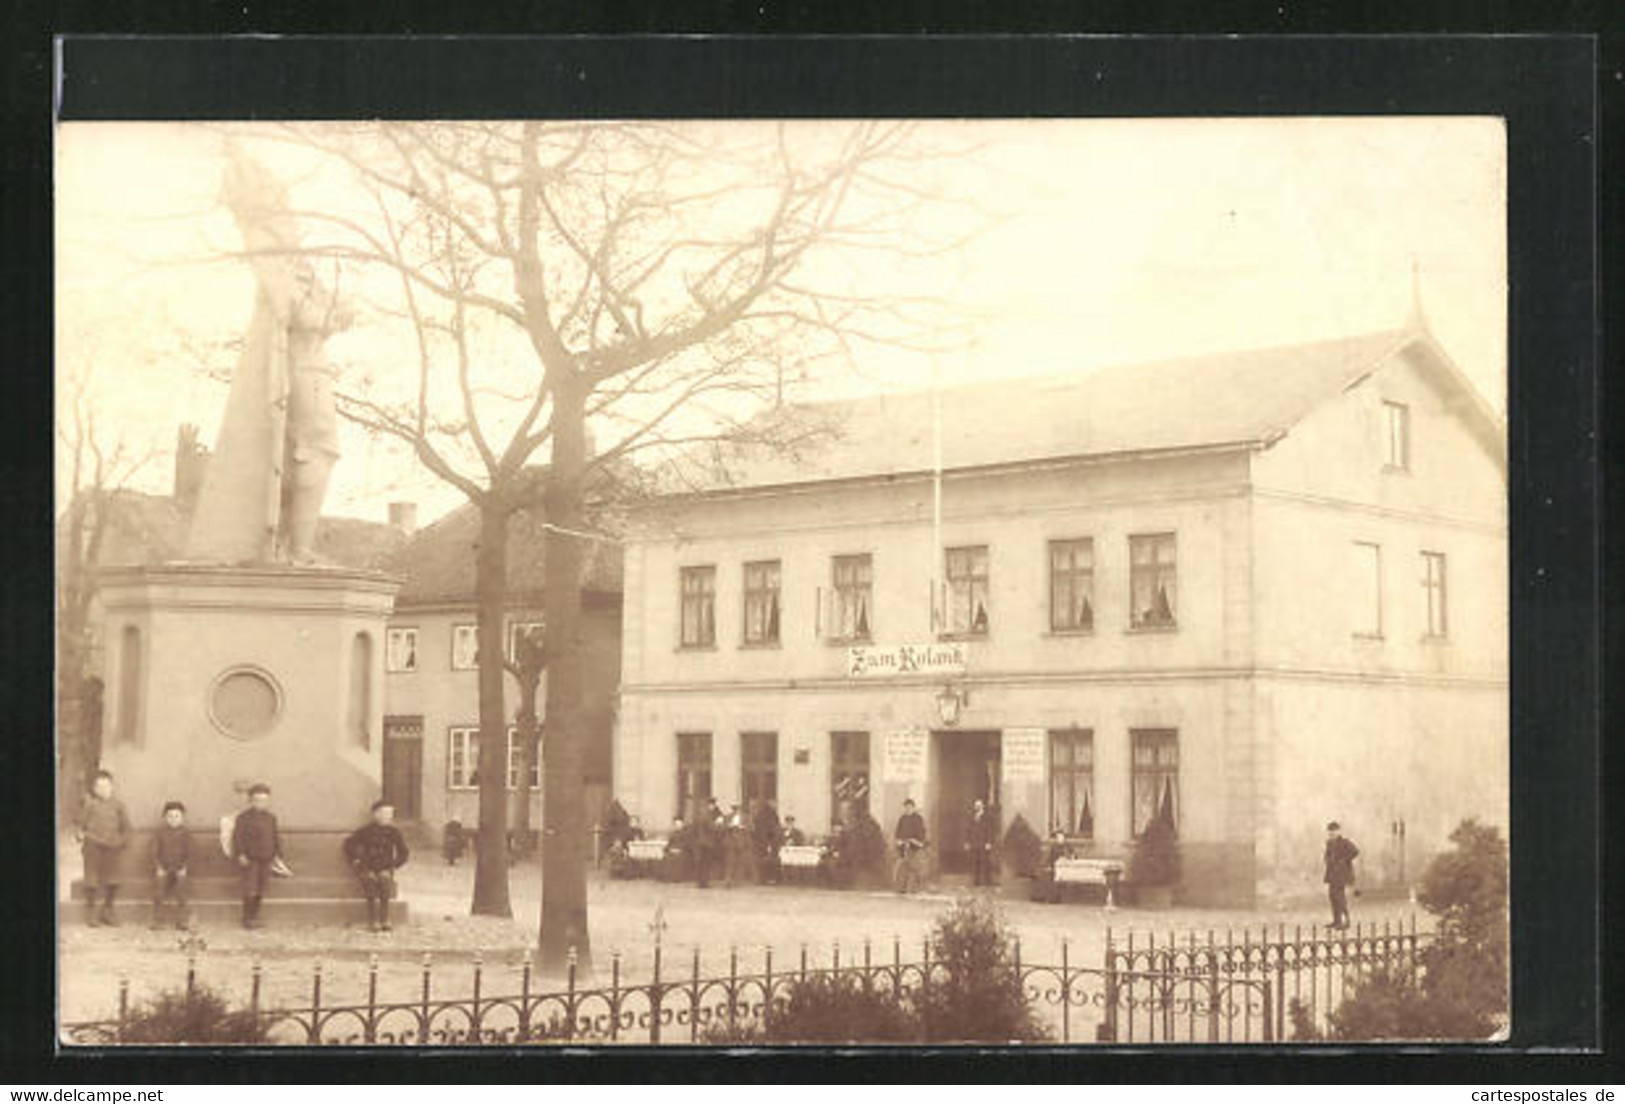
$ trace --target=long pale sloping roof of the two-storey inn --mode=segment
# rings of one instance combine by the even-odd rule
[[[829,424],[826,444],[795,455],[723,450],[715,463],[720,470],[696,480],[694,489],[930,472],[934,402],[941,403],[944,470],[1269,444],[1414,341],[1443,356],[1425,332],[1399,328],[944,387],[938,400],[928,390],[912,390],[808,403],[790,410]],[[1445,361],[1454,382],[1471,392],[1459,369]],[[1476,393],[1472,398],[1477,405],[1469,405],[1469,413],[1482,418],[1487,406]]]

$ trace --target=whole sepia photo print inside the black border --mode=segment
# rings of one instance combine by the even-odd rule
[[[54,141],[62,1047],[1508,1037],[1503,119]]]

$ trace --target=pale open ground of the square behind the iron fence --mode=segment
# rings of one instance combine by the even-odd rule
[[[374,935],[362,925],[271,927],[244,932],[236,927],[203,927],[197,951],[198,980],[236,1000],[247,1000],[252,963],[263,967],[262,1006],[306,1006],[312,997],[312,964],[322,963],[323,1006],[364,1003],[369,958],[379,958],[379,1000],[418,1000],[422,961],[434,964],[434,993],[463,997],[473,990],[476,953],[483,959],[483,992],[507,995],[520,990],[520,964],[535,945],[540,912],[540,870],[522,863],[512,870],[514,920],[470,917],[471,863],[444,867],[414,863],[401,878],[401,898],[411,906],[411,922],[393,933]],[[622,984],[644,982],[653,966],[656,912],[663,927],[663,976],[687,977],[699,953],[702,976],[726,976],[730,951],[738,953],[739,972],[759,972],[765,948],[774,948],[777,972],[800,963],[803,946],[816,966],[830,963],[838,946],[842,963],[861,961],[864,940],[876,961],[890,961],[894,945],[904,961],[918,961],[931,922],[952,904],[952,893],[926,891],[912,898],[892,893],[830,891],[793,886],[713,886],[658,881],[609,881],[595,878],[588,888],[593,924],[593,961],[578,972],[578,985],[609,984],[619,953]],[[1407,922],[1412,906],[1396,901],[1362,904],[1362,924]],[[1228,912],[1212,909],[1144,911],[1123,907],[1107,912],[1098,902],[1035,904],[999,898],[1006,920],[1019,932],[1027,963],[1060,963],[1061,941],[1072,966],[1098,966],[1107,930],[1115,940],[1129,932],[1136,941],[1155,933],[1157,941],[1176,938],[1219,941],[1287,933],[1324,920],[1318,907],[1282,912]],[[73,917],[75,911],[67,915]],[[117,1011],[119,979],[130,984],[138,1003],[185,980],[187,954],[176,932],[150,932],[146,907],[124,906],[119,928],[88,928],[72,922],[62,928],[60,1006],[63,1021],[96,1019]],[[1419,917],[1419,924],[1425,917]],[[551,989],[540,977],[535,990]],[[562,982],[562,979],[559,979]],[[562,987],[562,984],[559,985]]]

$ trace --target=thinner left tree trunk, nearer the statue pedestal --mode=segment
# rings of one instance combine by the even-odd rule
[[[479,834],[474,837],[474,915],[512,917],[507,849],[507,709],[502,704],[502,621],[507,610],[505,511],[483,504],[474,551],[479,639]]]

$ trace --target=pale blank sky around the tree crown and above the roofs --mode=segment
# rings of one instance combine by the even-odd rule
[[[926,138],[978,146],[973,163],[939,166],[939,184],[994,218],[925,275],[871,276],[983,319],[972,350],[939,359],[944,380],[1394,328],[1415,265],[1435,337],[1505,410],[1498,119],[934,122]],[[236,246],[221,167],[218,138],[197,124],[57,130],[58,371],[94,366],[102,423],[161,452],[143,489],[167,491],[179,423],[213,442],[224,387],[185,350],[245,328],[254,301],[245,265],[193,263]],[[273,167],[296,189],[307,179],[297,158]],[[380,374],[396,361],[354,345],[338,359]],[[822,393],[918,387],[931,363],[890,351],[856,369]],[[384,520],[393,499],[429,520],[460,496],[346,432],[328,512]]]

